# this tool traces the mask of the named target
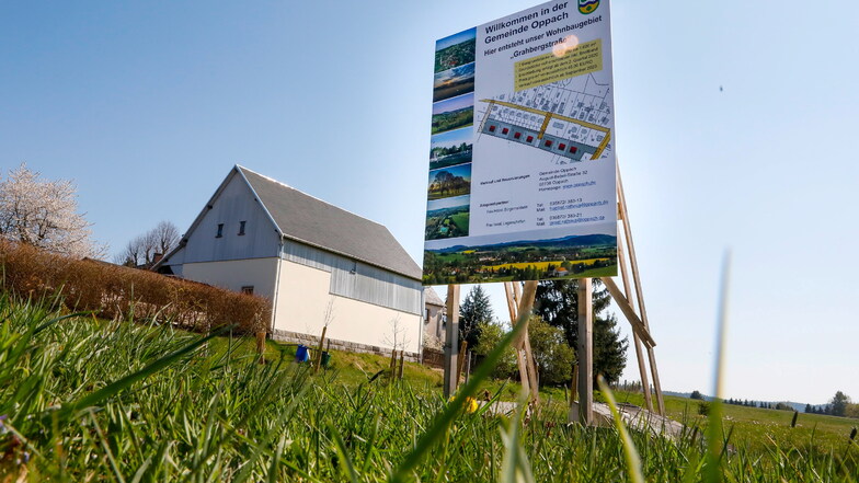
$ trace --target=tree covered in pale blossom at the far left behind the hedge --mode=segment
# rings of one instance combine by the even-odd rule
[[[106,246],[92,240],[92,225],[78,212],[75,184],[39,176],[21,163],[0,181],[0,238],[78,258],[103,257]]]

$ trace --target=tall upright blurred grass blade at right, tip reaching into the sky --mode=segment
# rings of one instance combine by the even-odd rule
[[[710,414],[707,424],[707,455],[703,467],[705,483],[721,483],[722,481],[722,455],[723,447],[728,441],[724,440],[722,428],[722,379],[724,376],[724,342],[728,325],[728,290],[731,279],[731,252],[726,252],[722,265],[722,284],[719,294],[719,314],[717,319],[715,337],[715,373],[713,382],[713,401],[710,403]]]

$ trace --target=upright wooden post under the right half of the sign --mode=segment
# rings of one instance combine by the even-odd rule
[[[594,301],[593,280],[579,279],[579,421],[594,422]]]

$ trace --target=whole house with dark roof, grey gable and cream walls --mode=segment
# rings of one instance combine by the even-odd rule
[[[421,268],[383,226],[236,165],[154,267],[272,301],[274,338],[413,357]],[[331,308],[331,310],[329,310]]]

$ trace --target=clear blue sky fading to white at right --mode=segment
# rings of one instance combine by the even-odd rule
[[[420,261],[435,41],[535,3],[1,2],[0,168],[75,179],[113,253],[240,163]],[[859,3],[616,0],[612,23],[664,389],[711,392],[730,248],[726,395],[859,399]]]

